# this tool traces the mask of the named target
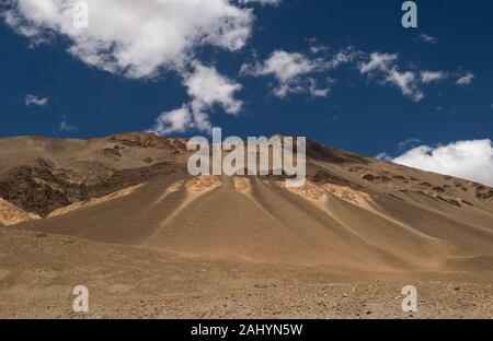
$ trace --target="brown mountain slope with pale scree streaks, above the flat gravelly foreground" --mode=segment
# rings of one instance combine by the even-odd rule
[[[26,175],[27,166],[20,166],[22,181],[12,167],[2,173],[22,185],[38,184],[45,195],[59,191],[67,201],[36,195],[8,200],[7,188],[3,200],[38,215],[2,228],[252,263],[362,271],[493,268],[493,191],[479,184],[313,142],[300,188],[286,188],[282,176],[191,177],[184,141],[136,133],[77,145],[78,153],[45,145],[42,158],[49,167],[32,156],[28,167],[35,170]],[[111,160],[100,160],[101,146],[121,156],[106,152]]]

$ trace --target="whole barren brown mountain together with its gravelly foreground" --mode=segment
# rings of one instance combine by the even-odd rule
[[[0,139],[0,316],[84,284],[93,317],[388,317],[414,282],[423,317],[492,317],[492,188],[313,141],[300,188],[192,177],[186,142]]]

